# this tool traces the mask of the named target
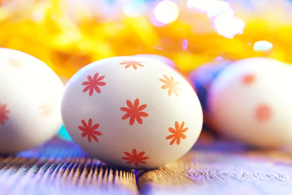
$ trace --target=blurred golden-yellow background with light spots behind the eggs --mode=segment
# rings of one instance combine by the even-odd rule
[[[62,78],[98,59],[136,54],[168,57],[184,74],[218,57],[292,63],[292,2],[226,0],[220,8],[215,1],[174,0],[178,10],[169,3],[159,10],[161,0],[0,0],[0,47],[43,60]],[[235,17],[244,28],[230,36],[224,29],[240,27]],[[260,40],[271,46],[258,51]]]

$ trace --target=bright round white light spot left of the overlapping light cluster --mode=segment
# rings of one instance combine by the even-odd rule
[[[154,9],[156,20],[164,24],[177,20],[179,16],[178,6],[171,0],[163,0]]]

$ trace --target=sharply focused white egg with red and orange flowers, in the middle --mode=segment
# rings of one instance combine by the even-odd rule
[[[155,168],[180,158],[202,127],[191,85],[150,58],[114,57],[85,66],[68,81],[61,113],[83,150],[123,168]]]

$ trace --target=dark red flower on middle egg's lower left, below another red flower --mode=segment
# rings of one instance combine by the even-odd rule
[[[91,143],[91,138],[94,141],[98,142],[98,138],[96,136],[101,136],[102,133],[99,131],[95,131],[98,129],[99,124],[94,124],[92,126],[92,118],[88,120],[88,123],[85,122],[85,120],[81,120],[81,123],[83,126],[79,126],[78,129],[82,131],[81,137],[87,137],[88,141]]]

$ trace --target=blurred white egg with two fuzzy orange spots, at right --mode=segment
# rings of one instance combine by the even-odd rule
[[[292,71],[269,58],[243,59],[224,69],[208,93],[219,131],[251,145],[292,145]]]

